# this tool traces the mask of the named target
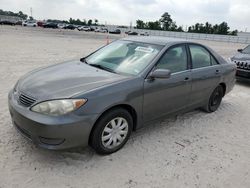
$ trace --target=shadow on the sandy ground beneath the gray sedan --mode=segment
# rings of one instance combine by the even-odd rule
[[[222,103],[220,109],[218,111],[224,111],[225,108],[228,108],[227,103]],[[217,112],[216,112],[217,113]],[[149,124],[143,128],[138,129],[137,131],[132,132],[131,137],[125,147],[132,147],[133,143],[140,141],[142,138],[149,137],[153,138],[154,135],[160,134],[162,132],[168,132],[167,134],[171,134],[172,131],[182,131],[185,129],[186,126],[190,126],[187,122],[197,122],[202,117],[207,118],[207,116],[211,116],[211,113],[205,113],[200,109],[192,110],[186,113],[182,113],[175,116],[166,117],[164,119],[155,121],[154,123]],[[198,122],[197,122],[198,123]],[[196,123],[195,123],[196,124]],[[182,133],[180,132],[180,135]],[[36,147],[36,146],[31,146]],[[98,155],[92,148],[73,148],[67,150],[59,150],[59,151],[51,151],[41,148],[32,148],[35,149],[36,155],[39,158],[44,158],[43,162],[47,163],[58,163],[62,162],[65,163],[67,166],[71,165],[78,165],[78,163],[84,162],[86,164],[86,168],[89,165],[93,165],[95,161],[105,159],[105,160],[112,160],[117,153],[111,155]],[[126,148],[124,148],[126,149]],[[118,151],[122,152],[122,151]]]

